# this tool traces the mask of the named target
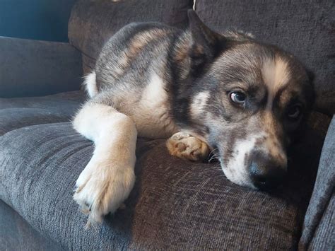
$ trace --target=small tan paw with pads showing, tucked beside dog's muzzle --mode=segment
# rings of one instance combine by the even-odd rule
[[[187,160],[204,161],[209,155],[209,146],[204,141],[184,132],[173,134],[166,146],[172,156]]]

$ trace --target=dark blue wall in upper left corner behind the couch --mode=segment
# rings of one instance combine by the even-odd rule
[[[67,42],[75,0],[0,0],[0,36]]]

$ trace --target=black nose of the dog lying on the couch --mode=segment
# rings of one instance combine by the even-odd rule
[[[286,175],[286,165],[261,153],[252,154],[249,175],[255,187],[261,190],[277,187]]]

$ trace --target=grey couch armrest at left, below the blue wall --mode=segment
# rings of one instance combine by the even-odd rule
[[[64,42],[0,37],[0,98],[80,89],[81,54]]]

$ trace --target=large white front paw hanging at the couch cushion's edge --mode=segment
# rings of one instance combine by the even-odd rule
[[[79,175],[74,194],[81,211],[88,214],[86,227],[114,213],[129,196],[134,182],[134,166],[97,161],[93,157]]]

